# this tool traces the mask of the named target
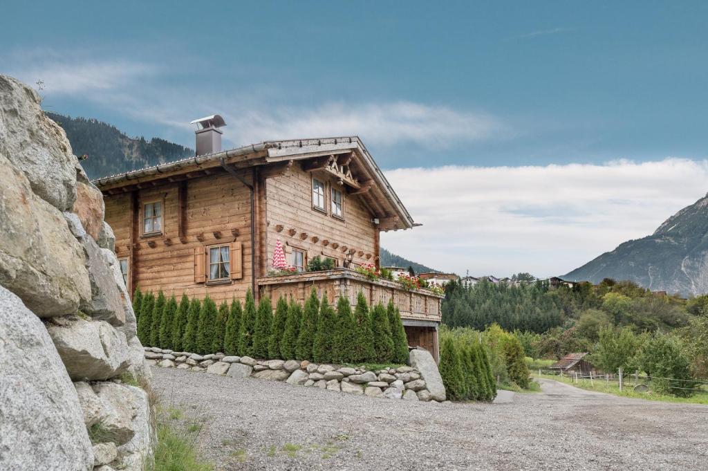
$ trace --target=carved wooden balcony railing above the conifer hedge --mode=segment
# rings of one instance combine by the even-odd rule
[[[273,300],[280,296],[289,300],[292,296],[292,299],[304,304],[314,286],[317,294],[326,295],[331,304],[336,303],[341,295],[354,307],[359,292],[362,292],[370,306],[379,302],[387,305],[389,300],[393,300],[404,320],[440,322],[442,296],[425,289],[405,290],[396,281],[381,278],[370,280],[349,268],[264,276],[257,282],[261,295],[268,295]]]

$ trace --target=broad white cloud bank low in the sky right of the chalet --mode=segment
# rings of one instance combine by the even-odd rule
[[[396,169],[386,172],[423,227],[382,246],[445,271],[561,275],[651,234],[701,198],[708,161]]]

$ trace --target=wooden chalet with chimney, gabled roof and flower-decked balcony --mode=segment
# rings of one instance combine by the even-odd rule
[[[410,346],[438,358],[442,297],[353,270],[379,265],[379,232],[416,226],[358,137],[269,141],[221,149],[224,120],[195,120],[197,157],[98,178],[105,220],[132,293],[187,293],[216,302],[280,295],[304,303],[312,286],[331,302],[393,299]],[[297,273],[273,276],[280,242]],[[309,272],[316,256],[335,269]]]

